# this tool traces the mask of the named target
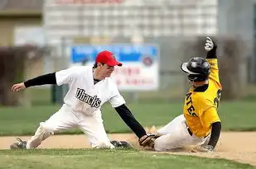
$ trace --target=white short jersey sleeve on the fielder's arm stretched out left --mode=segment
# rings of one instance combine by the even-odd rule
[[[64,70],[60,70],[56,72],[56,83],[58,86],[63,84],[69,84],[72,79],[75,77],[75,70],[76,68],[67,68]]]

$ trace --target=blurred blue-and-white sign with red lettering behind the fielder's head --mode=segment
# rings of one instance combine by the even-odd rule
[[[159,49],[157,45],[74,45],[70,63],[93,65],[100,51],[109,50],[123,63],[112,77],[122,91],[157,90],[159,86]]]

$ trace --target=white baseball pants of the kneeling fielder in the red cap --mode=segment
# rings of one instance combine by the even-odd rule
[[[73,128],[79,128],[85,133],[92,148],[114,148],[104,129],[100,111],[94,115],[85,115],[74,112],[64,104],[48,120],[40,123],[35,135],[27,141],[27,149],[37,148],[51,134]]]

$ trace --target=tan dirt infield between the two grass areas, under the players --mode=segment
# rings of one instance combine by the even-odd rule
[[[20,137],[27,139],[29,137]],[[138,139],[134,134],[109,134],[109,138],[127,140],[138,148]],[[16,137],[1,137],[0,149],[9,149]],[[223,132],[215,153],[186,153],[177,154],[196,155],[200,157],[226,158],[256,166],[256,132]],[[47,138],[39,148],[88,148],[89,143],[85,135],[56,135]]]

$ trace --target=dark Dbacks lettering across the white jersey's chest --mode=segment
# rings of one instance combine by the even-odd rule
[[[81,88],[77,88],[75,97],[80,101],[84,101],[85,103],[89,104],[91,107],[99,108],[101,103],[97,96],[89,96],[85,93],[85,90]]]

